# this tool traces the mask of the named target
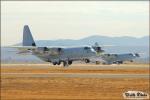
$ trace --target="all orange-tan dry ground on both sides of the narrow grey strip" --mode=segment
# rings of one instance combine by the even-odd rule
[[[1,73],[149,74],[149,65],[75,64],[63,68],[47,64],[2,64]],[[123,92],[130,90],[150,93],[148,78],[14,77],[2,74],[2,100],[120,100]]]

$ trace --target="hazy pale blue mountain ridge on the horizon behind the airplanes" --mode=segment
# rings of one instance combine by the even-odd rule
[[[142,38],[135,38],[129,36],[107,37],[107,36],[93,35],[78,40],[58,39],[58,40],[38,40],[35,42],[38,46],[80,46],[80,45],[93,45],[95,42],[98,42],[100,45],[149,46],[149,36],[144,36]],[[17,45],[21,45],[21,43]]]

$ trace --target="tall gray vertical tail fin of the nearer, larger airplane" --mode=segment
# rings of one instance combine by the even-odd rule
[[[22,45],[23,46],[36,46],[28,25],[25,25],[23,29]]]

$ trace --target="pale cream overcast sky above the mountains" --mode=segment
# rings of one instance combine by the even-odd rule
[[[91,35],[149,35],[148,1],[2,1],[2,45],[22,41],[28,24],[35,40]]]

